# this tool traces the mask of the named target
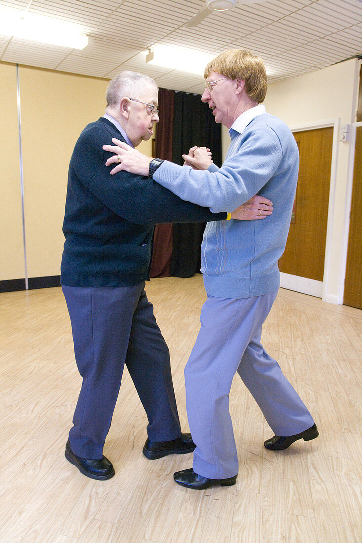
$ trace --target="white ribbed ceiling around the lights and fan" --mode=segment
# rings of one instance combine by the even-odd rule
[[[0,60],[111,79],[122,70],[159,87],[202,93],[202,75],[145,62],[154,44],[217,55],[246,47],[259,54],[269,83],[320,70],[362,54],[361,0],[270,0],[213,12],[196,28],[185,23],[203,0],[8,0],[0,5],[74,22],[89,34],[84,50],[0,35]],[[341,84],[336,81],[336,84]]]

